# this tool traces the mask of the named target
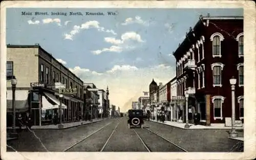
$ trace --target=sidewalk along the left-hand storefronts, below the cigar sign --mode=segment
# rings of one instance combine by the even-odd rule
[[[103,118],[103,119],[93,119],[92,121],[78,121],[78,122],[70,122],[70,123],[62,123],[63,128],[58,128],[58,124],[50,124],[50,125],[43,125],[43,126],[32,126],[31,129],[66,129],[66,128],[71,128],[71,127],[76,127],[76,126],[81,126],[85,124],[90,124],[90,123],[95,123],[99,121],[103,121],[109,118]],[[12,127],[7,127],[7,129],[11,129]],[[18,127],[15,127],[18,128]],[[26,127],[23,126],[22,129],[25,129]]]

